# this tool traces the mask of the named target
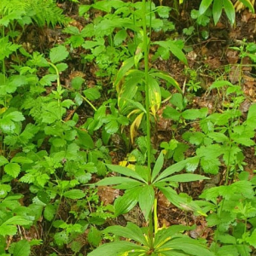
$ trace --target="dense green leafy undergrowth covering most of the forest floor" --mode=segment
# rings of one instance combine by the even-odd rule
[[[215,78],[207,88],[222,97],[220,108],[192,108],[202,88],[176,37],[172,17],[182,3],[71,2],[86,26],[75,26],[53,0],[0,3],[0,256],[254,253],[256,182],[245,150],[255,147],[256,105],[241,112],[241,79]],[[201,1],[184,34],[207,38],[223,9],[234,24],[237,5],[219,3]],[[20,38],[31,24],[65,26],[66,41],[28,52]],[[254,43],[232,49],[254,65]],[[64,77],[78,55],[77,67],[94,68],[95,84],[81,73]],[[190,76],[183,89],[157,68],[170,59]],[[85,120],[81,109],[90,109]],[[171,136],[154,143],[163,119]],[[113,160],[118,152],[121,161]],[[193,198],[183,183],[204,189]],[[203,219],[212,237],[191,236],[196,224],[188,221],[161,224],[160,197]],[[119,224],[133,209],[143,223]]]

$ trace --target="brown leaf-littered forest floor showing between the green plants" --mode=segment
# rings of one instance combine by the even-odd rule
[[[83,2],[83,1],[82,1]],[[170,1],[166,1],[167,4]],[[188,67],[184,67],[184,64],[177,61],[176,58],[171,57],[167,61],[154,61],[154,67],[162,71],[170,73],[171,76],[177,80],[181,88],[186,89],[186,85],[193,77],[193,83],[198,83],[200,88],[195,93],[188,93],[189,106],[191,108],[203,108],[207,107],[212,112],[221,111],[223,108],[223,95],[217,90],[208,90],[213,81],[217,78],[222,77],[223,79],[229,80],[232,84],[240,83],[242,90],[246,96],[246,100],[241,104],[241,113],[246,114],[249,106],[252,102],[256,102],[255,86],[256,86],[256,70],[253,67],[252,61],[244,57],[241,59],[239,53],[236,50],[230,49],[230,47],[240,47],[242,40],[246,38],[247,42],[254,42],[256,38],[256,15],[250,13],[247,9],[241,10],[240,13],[236,14],[236,26],[231,27],[225,16],[221,18],[217,26],[207,26],[207,32],[209,34],[207,39],[202,39],[201,27],[195,27],[196,33],[191,36],[183,35],[183,28],[189,26],[195,26],[195,21],[190,18],[191,9],[198,9],[200,1],[188,1],[182,6],[180,6],[179,14],[173,14],[173,19],[175,20],[176,30],[172,35],[166,34],[155,34],[152,37],[154,40],[160,40],[166,37],[172,38],[183,38],[185,40],[185,49],[189,49],[187,53],[187,59],[189,62]],[[78,4],[71,2],[59,3],[61,9],[64,9],[64,13],[73,19],[72,26],[77,26],[79,30],[86,26],[84,19],[79,17]],[[101,15],[101,13],[94,13],[92,15]],[[40,52],[48,52],[49,49],[55,44],[63,44],[67,40],[67,34],[61,32],[61,27],[38,29],[35,26],[30,26],[23,35],[23,43],[26,49],[32,45],[36,46],[36,49]],[[34,50],[34,49],[33,49]],[[83,53],[84,49],[73,49],[70,53],[70,58],[68,59],[68,70],[61,74],[61,84],[69,86],[71,80],[75,76],[81,76],[86,80],[88,86],[93,87],[98,83],[98,78],[96,76],[97,67],[94,64],[81,64],[79,60],[80,55]],[[242,73],[237,68],[237,63],[244,65],[242,67]],[[227,71],[227,66],[230,69]],[[193,75],[192,73],[196,74]],[[102,84],[106,84],[105,90],[109,90],[112,86],[108,78],[104,78],[101,81]],[[172,90],[174,92],[175,90]],[[101,105],[101,101],[96,102],[96,107]],[[154,131],[154,137],[152,142],[154,143],[154,148],[159,148],[159,145],[163,141],[170,141],[172,138],[172,132],[170,120],[162,118],[161,113],[165,106],[162,106],[158,115],[159,121],[157,127]],[[88,106],[82,105],[77,109],[79,113],[80,122],[84,121],[93,115],[93,112]],[[73,113],[70,113],[72,115]],[[68,117],[67,117],[68,118]],[[182,129],[176,131],[176,136],[181,137],[183,132],[188,131],[191,125],[183,125]],[[112,138],[112,150],[111,155],[113,157],[113,163],[119,163],[125,160],[125,153],[120,145],[119,140]],[[192,150],[193,148],[191,148]],[[245,162],[247,166],[244,166],[245,170],[253,176],[253,170],[256,169],[256,160],[254,157],[254,148],[246,148],[244,150],[244,155],[246,157]],[[206,186],[217,186],[224,184],[225,180],[225,170],[224,167],[218,176],[212,177],[212,179],[205,182],[193,182],[185,183],[180,185],[178,188],[181,192],[186,192],[193,198],[197,198],[201,195],[203,189]],[[210,185],[209,185],[210,184]],[[104,204],[113,203],[116,195],[121,192],[116,189],[110,189],[108,187],[102,187],[98,190],[98,195]],[[196,224],[196,230],[191,231],[190,236],[207,238],[211,241],[212,229],[207,228],[206,220],[203,217],[195,217],[193,214],[185,213],[174,207],[170,202],[166,200],[163,195],[159,195],[158,201],[159,209],[159,221],[160,225],[170,226],[172,224]],[[116,220],[109,221],[109,224],[121,224],[125,225],[127,221],[132,221],[139,226],[144,225],[144,219],[142,213],[139,211],[138,207],[135,207],[131,212],[119,217]],[[60,254],[61,255],[61,254]],[[62,255],[65,255],[63,252]]]

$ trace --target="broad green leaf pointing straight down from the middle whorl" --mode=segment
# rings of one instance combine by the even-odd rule
[[[148,221],[149,212],[152,211],[154,204],[154,188],[152,185],[145,185],[138,197],[139,206],[143,212],[144,218]]]

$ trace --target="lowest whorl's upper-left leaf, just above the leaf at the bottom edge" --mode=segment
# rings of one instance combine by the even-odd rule
[[[123,236],[131,240],[137,241],[141,244],[148,245],[148,240],[145,238],[143,231],[137,226],[128,222],[126,227],[122,226],[110,226],[107,229],[103,230],[104,234],[113,233],[116,236]]]

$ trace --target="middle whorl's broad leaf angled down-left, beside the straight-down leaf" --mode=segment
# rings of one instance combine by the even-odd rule
[[[118,197],[113,204],[115,216],[130,212],[137,205],[138,197],[142,191],[142,187],[135,187],[125,191],[125,195]]]

